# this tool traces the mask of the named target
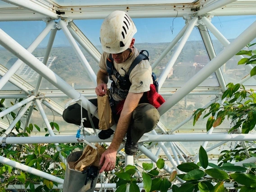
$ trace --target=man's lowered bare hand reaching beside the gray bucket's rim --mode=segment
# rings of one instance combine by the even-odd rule
[[[110,148],[108,148],[102,155],[101,155],[101,160],[100,160],[100,165],[103,164],[101,170],[100,170],[100,174],[103,171],[111,171],[114,169],[115,166],[115,160],[116,160],[116,153],[117,151],[112,150]]]

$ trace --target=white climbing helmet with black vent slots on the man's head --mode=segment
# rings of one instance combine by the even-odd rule
[[[137,29],[124,11],[109,14],[101,25],[100,40],[102,50],[117,54],[127,50]]]

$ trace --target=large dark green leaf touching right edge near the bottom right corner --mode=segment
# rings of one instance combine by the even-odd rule
[[[256,187],[256,175],[251,174],[230,174],[230,176],[239,184],[247,187]]]

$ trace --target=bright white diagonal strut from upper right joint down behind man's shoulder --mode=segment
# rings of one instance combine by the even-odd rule
[[[190,36],[191,32],[193,31],[197,21],[198,21],[197,16],[193,17],[192,20],[190,20],[190,23],[187,27],[186,32],[184,33],[183,37],[181,38],[176,50],[174,51],[173,55],[171,56],[171,59],[166,64],[165,70],[162,72],[162,74],[159,77],[159,80],[158,80],[159,90],[161,89],[163,83],[165,82],[165,79],[168,76],[170,70],[174,66],[174,63],[177,60],[178,55],[180,54],[181,50],[183,49],[185,43],[187,42],[187,39]]]

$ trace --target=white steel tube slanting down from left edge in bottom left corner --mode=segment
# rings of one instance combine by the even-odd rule
[[[28,173],[37,175],[37,176],[42,177],[42,178],[46,178],[50,181],[54,181],[54,182],[57,182],[57,183],[60,183],[60,184],[64,184],[64,179],[62,179],[62,178],[55,177],[51,174],[47,174],[43,171],[40,171],[40,170],[34,169],[32,167],[29,167],[27,165],[18,163],[14,160],[9,160],[9,159],[7,159],[5,157],[2,157],[2,156],[0,156],[0,163],[5,164],[5,165],[9,165],[11,167],[14,167],[14,168],[17,168],[17,169],[20,169],[20,170],[23,170],[23,171],[26,171]]]

